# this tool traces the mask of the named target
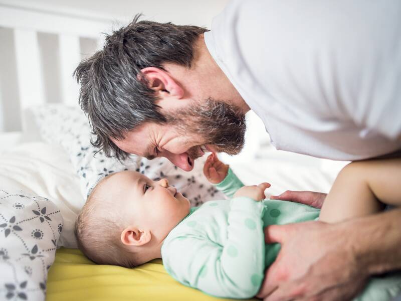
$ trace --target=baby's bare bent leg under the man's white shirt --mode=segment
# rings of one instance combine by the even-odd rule
[[[338,174],[319,220],[339,222],[401,205],[401,159],[353,162]]]

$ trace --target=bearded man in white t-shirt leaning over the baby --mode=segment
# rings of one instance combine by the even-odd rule
[[[363,160],[401,149],[401,2],[236,1],[212,30],[137,22],[82,62],[80,103],[106,154],[163,156],[185,171],[238,154],[245,113],[278,149]],[[321,206],[324,194],[279,196]],[[345,300],[401,268],[401,210],[266,228],[280,242],[259,296]]]

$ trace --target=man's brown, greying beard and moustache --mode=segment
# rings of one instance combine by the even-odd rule
[[[182,135],[201,137],[198,145],[213,144],[217,152],[237,155],[245,143],[245,114],[237,106],[212,98],[167,114]],[[202,156],[199,146],[187,150],[191,159]]]

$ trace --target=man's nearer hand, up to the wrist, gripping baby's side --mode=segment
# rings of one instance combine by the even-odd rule
[[[277,300],[349,300],[365,284],[368,272],[358,266],[351,229],[344,224],[305,222],[271,225],[265,241],[281,250],[268,268],[258,297]]]

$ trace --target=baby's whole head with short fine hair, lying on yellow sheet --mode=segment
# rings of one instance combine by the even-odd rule
[[[160,257],[167,234],[189,213],[189,201],[166,179],[124,171],[93,189],[75,224],[78,246],[101,264],[133,267]]]

